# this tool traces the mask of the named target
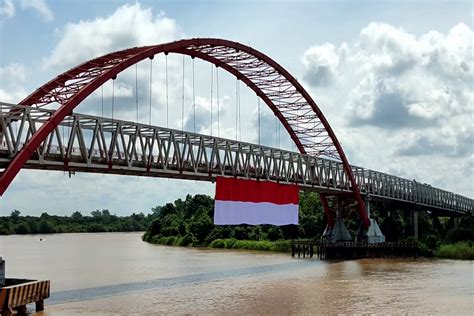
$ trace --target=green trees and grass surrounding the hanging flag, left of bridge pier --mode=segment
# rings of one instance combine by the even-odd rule
[[[184,201],[153,208],[155,220],[143,240],[163,245],[284,251],[289,247],[285,240],[316,238],[326,225],[316,194],[303,194],[300,204],[299,226],[214,226],[214,200],[206,195],[188,195]]]

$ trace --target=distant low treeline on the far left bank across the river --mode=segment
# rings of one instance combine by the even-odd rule
[[[119,217],[108,210],[96,210],[90,216],[74,212],[71,216],[43,213],[39,217],[21,216],[14,210],[9,217],[0,217],[0,235],[145,231],[151,221],[143,213]]]

